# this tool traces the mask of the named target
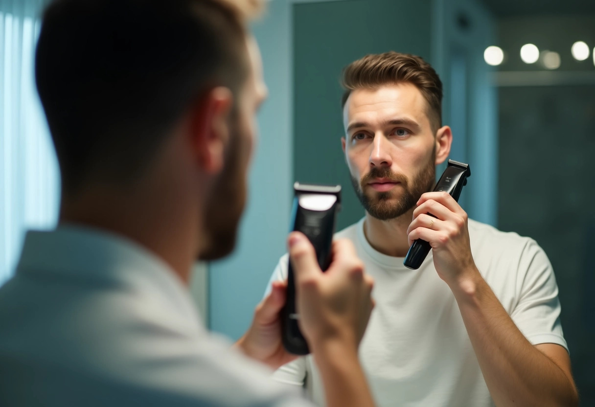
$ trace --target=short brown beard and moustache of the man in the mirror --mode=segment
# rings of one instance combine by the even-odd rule
[[[415,174],[411,181],[403,174],[393,173],[388,167],[372,167],[369,173],[363,176],[361,180],[352,176],[351,183],[359,201],[368,214],[384,221],[395,219],[409,212],[415,206],[419,197],[432,189],[436,182],[435,160],[436,148],[434,147],[430,160],[424,168]],[[400,195],[395,190],[387,192],[364,192],[365,186],[376,178],[388,179],[392,182],[400,183],[403,192]],[[396,202],[394,199],[396,199]]]

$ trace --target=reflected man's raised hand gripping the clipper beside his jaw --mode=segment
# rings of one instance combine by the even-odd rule
[[[449,193],[427,192],[419,198],[407,230],[409,245],[417,239],[430,243],[436,271],[449,286],[478,273],[467,220],[466,212]]]

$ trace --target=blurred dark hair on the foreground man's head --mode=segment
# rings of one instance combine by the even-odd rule
[[[201,95],[215,86],[237,95],[249,73],[246,13],[257,3],[52,2],[35,78],[62,192],[89,180],[130,183]]]

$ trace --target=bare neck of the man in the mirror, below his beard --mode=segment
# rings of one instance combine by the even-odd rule
[[[407,228],[413,217],[412,208],[398,218],[378,220],[366,213],[364,234],[375,251],[387,256],[405,257],[409,251]]]

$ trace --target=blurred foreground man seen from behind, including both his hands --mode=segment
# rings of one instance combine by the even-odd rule
[[[283,284],[236,350],[205,331],[186,289],[197,256],[231,251],[244,206],[265,96],[245,24],[214,0],[46,10],[36,81],[61,168],[60,224],[27,234],[0,289],[0,405],[309,404],[265,368],[293,358],[280,340]],[[334,245],[327,274],[305,236],[289,246],[327,402],[371,406],[357,356],[371,279],[349,242]]]

